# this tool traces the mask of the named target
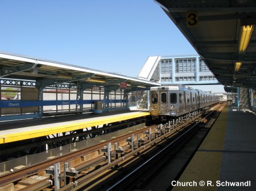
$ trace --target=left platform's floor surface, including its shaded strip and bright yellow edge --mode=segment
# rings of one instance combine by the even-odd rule
[[[150,115],[147,111],[111,112],[102,114],[76,114],[46,117],[42,120],[20,120],[0,123],[0,144],[64,133],[93,126],[132,120]]]

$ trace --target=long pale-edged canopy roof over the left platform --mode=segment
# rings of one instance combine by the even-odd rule
[[[0,78],[35,80],[39,87],[61,83],[82,84],[88,88],[113,85],[129,90],[160,86],[159,83],[125,75],[3,52],[0,52]]]

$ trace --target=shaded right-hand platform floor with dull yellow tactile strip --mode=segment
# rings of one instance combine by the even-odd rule
[[[172,190],[256,190],[255,115],[227,105]]]

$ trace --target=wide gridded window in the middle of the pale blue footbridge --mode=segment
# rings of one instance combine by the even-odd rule
[[[191,73],[196,71],[196,58],[176,59],[176,73]]]

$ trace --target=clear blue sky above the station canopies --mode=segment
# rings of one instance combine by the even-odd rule
[[[0,50],[137,77],[148,56],[196,54],[153,0],[0,1]]]

